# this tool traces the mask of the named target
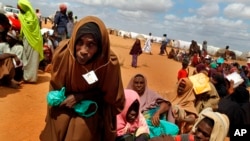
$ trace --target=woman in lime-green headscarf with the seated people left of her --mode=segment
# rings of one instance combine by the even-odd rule
[[[12,28],[6,15],[1,13],[0,80],[12,88],[19,88],[21,80],[35,83],[39,62],[44,57],[39,21],[31,4],[27,0],[19,0],[17,6],[20,30]]]

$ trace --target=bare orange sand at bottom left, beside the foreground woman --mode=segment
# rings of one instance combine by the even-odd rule
[[[0,140],[39,140],[49,79],[48,73],[39,72],[37,84],[23,84],[20,90],[0,87]]]

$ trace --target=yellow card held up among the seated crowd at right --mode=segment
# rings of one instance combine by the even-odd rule
[[[211,90],[209,77],[204,73],[189,76],[189,80],[193,83],[194,92],[197,95]]]

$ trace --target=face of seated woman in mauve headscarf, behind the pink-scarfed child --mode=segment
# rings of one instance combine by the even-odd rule
[[[140,96],[145,91],[145,79],[142,76],[136,76],[133,82],[133,90],[135,90]]]

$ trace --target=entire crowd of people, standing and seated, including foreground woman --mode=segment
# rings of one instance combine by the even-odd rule
[[[67,6],[61,4],[54,34],[42,35],[30,2],[19,0],[18,8],[20,31],[0,14],[0,81],[12,88],[19,88],[20,81],[35,83],[39,65],[51,64],[41,141],[223,141],[235,126],[250,124],[249,66],[212,58],[207,41],[201,52],[195,41],[190,45],[189,57],[203,54],[196,64],[182,56],[170,100],[152,90],[142,73],[124,86],[118,57],[98,17],[73,24],[73,13],[66,15]],[[132,67],[143,51],[152,54],[149,35],[143,49],[139,39],[134,42]]]

